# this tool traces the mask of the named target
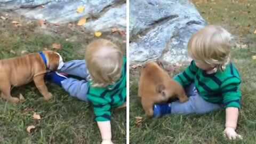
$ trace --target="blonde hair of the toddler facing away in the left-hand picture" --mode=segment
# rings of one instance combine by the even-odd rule
[[[122,52],[107,39],[97,39],[90,43],[86,49],[85,61],[93,87],[115,84],[122,76]]]

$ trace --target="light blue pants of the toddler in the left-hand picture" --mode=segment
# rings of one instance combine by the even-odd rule
[[[64,66],[59,72],[74,75],[86,79],[89,75],[86,69],[85,60],[71,60],[64,63]],[[63,89],[65,89],[72,97],[76,97],[82,101],[88,101],[86,97],[87,93],[87,81],[79,81],[75,78],[67,78],[61,82]]]

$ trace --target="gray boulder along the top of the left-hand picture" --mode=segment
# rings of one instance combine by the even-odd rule
[[[85,7],[83,13],[76,12],[80,6]],[[89,18],[83,27],[92,31],[126,30],[125,0],[0,0],[0,9],[60,24]]]

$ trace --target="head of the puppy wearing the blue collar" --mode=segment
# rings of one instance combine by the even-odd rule
[[[56,71],[63,67],[64,63],[59,53],[50,51],[48,55],[49,55],[49,69],[51,71]]]

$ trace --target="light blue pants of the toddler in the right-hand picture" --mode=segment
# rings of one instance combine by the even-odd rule
[[[174,101],[171,103],[171,114],[205,114],[210,111],[220,110],[223,108],[223,104],[211,103],[205,101],[197,92],[195,83],[185,87],[186,94],[188,95],[188,101],[180,103]]]

